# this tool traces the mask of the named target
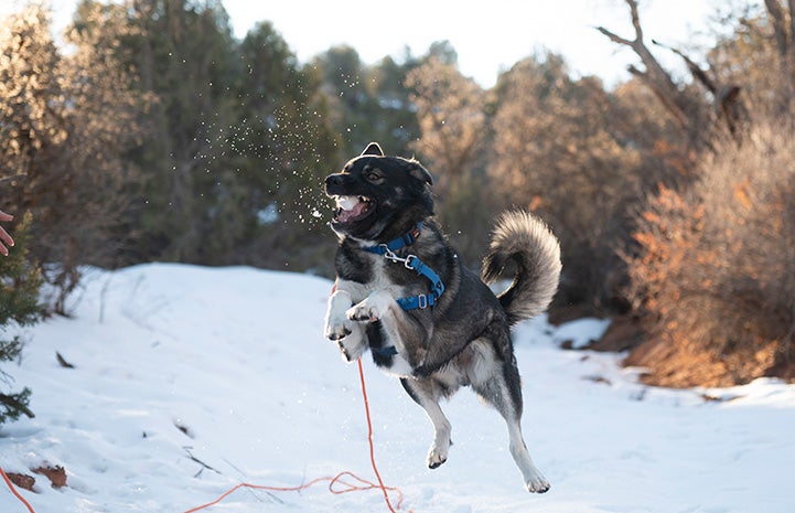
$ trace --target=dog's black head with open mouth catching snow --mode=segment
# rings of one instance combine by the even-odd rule
[[[383,243],[433,215],[433,179],[416,160],[385,157],[377,142],[325,179],[336,201],[331,227],[340,235]]]

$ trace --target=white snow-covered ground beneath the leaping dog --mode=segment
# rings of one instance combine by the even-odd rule
[[[34,419],[0,426],[0,466],[36,475],[36,513],[182,513],[239,482],[292,487],[348,470],[373,480],[355,365],[322,338],[331,282],[251,268],[93,271],[72,319],[28,330],[13,389]],[[792,513],[795,386],[638,384],[619,357],[563,351],[603,324],[515,332],[530,453],[552,483],[524,491],[496,412],[462,389],[444,405],[450,459],[429,470],[430,424],[365,362],[375,453],[401,511]],[[75,368],[58,365],[55,353]],[[723,400],[706,400],[705,395]],[[0,513],[26,511],[0,482]],[[238,490],[212,512],[385,512],[378,491]]]

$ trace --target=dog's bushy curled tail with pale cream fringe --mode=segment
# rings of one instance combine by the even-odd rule
[[[498,296],[511,325],[544,312],[558,290],[560,245],[542,221],[525,211],[505,212],[497,221],[481,279],[496,280],[516,263],[514,282]]]

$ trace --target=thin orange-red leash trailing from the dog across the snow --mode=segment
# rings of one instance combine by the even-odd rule
[[[397,513],[397,510],[400,510],[400,505],[402,504],[402,492],[400,492],[400,489],[396,487],[387,487],[384,484],[384,480],[380,477],[380,472],[378,472],[378,467],[375,462],[375,448],[373,445],[373,421],[370,420],[369,415],[369,400],[367,399],[367,387],[364,382],[364,368],[362,367],[362,359],[358,359],[356,361],[358,364],[358,376],[359,381],[362,383],[362,397],[364,398],[364,410],[365,415],[367,417],[367,441],[369,443],[369,461],[373,467],[373,472],[375,472],[376,480],[378,483],[374,483],[372,481],[367,481],[366,479],[362,479],[358,475],[354,474],[353,472],[343,471],[334,477],[324,477],[324,478],[318,478],[313,479],[312,481],[309,481],[304,484],[298,485],[298,487],[265,487],[261,484],[251,484],[251,483],[239,483],[235,485],[234,488],[227,490],[224,492],[218,499],[216,499],[213,502],[208,502],[206,504],[202,504],[200,506],[193,507],[191,510],[185,511],[184,513],[194,513],[196,511],[206,510],[207,507],[214,506],[218,504],[221,501],[226,499],[227,496],[235,493],[237,490],[241,488],[249,488],[254,490],[266,490],[270,492],[298,492],[301,490],[305,490],[310,487],[313,487],[314,484],[321,483],[321,482],[329,482],[329,491],[335,495],[342,494],[342,493],[348,493],[348,492],[356,492],[356,491],[368,491],[368,490],[380,490],[384,494],[384,502],[386,503],[387,507],[389,509],[390,513]],[[3,471],[2,467],[0,467],[0,474],[2,474],[3,480],[8,484],[11,492],[19,499],[26,507],[30,513],[35,513],[33,511],[33,507],[28,503],[28,501],[24,500],[22,495],[17,491],[13,483],[9,479],[8,475],[6,475],[6,472]],[[345,478],[350,478],[351,480],[355,481],[355,483],[351,483],[348,481],[345,481]],[[393,507],[391,502],[389,501],[389,492],[396,492],[398,494],[398,501],[397,505]],[[409,511],[409,513],[411,513]]]

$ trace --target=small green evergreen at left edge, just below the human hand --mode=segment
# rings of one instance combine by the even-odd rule
[[[39,287],[41,275],[37,266],[29,260],[29,241],[32,216],[28,213],[22,223],[14,227],[13,250],[8,257],[0,258],[0,362],[11,362],[22,351],[19,334],[7,338],[8,331],[34,324],[41,317]],[[11,384],[11,376],[0,371],[0,382]],[[24,414],[33,417],[28,408],[31,391],[0,392],[0,424],[15,420]]]

